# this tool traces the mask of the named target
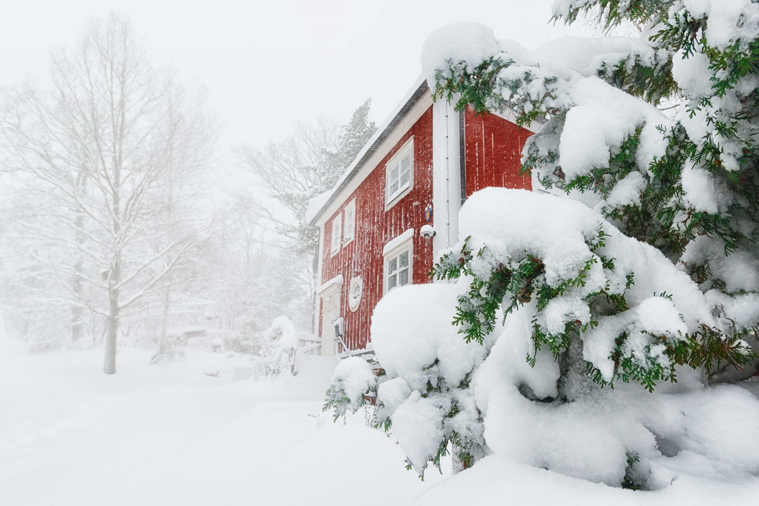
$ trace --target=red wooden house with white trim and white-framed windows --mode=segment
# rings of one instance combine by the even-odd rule
[[[335,188],[311,201],[310,223],[320,227],[314,326],[322,355],[343,344],[351,355],[371,348],[377,302],[398,286],[430,283],[438,252],[458,242],[458,210],[469,195],[486,186],[532,188],[519,173],[531,130],[433,103],[427,82],[414,84]]]

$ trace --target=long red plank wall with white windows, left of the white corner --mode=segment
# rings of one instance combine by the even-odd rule
[[[414,136],[414,187],[392,208],[385,211],[385,163],[395,155],[411,136]],[[330,257],[332,220],[343,208],[356,199],[355,238]],[[427,273],[433,267],[432,239],[421,239],[419,229],[424,225],[424,208],[432,203],[432,107],[422,114],[389,153],[376,165],[338,211],[326,220],[321,283],[342,274],[340,315],[344,319],[345,342],[351,349],[365,348],[374,307],[383,296],[384,264],[382,250],[391,239],[410,228],[414,235],[413,283],[427,283]],[[433,216],[434,217],[434,216]],[[344,218],[345,219],[345,218]],[[364,289],[356,311],[348,307],[351,278],[361,276]],[[321,331],[321,316],[320,326]]]

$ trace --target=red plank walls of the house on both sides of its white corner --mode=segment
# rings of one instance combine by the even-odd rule
[[[321,283],[342,274],[340,316],[344,319],[345,342],[351,349],[365,348],[369,341],[372,311],[383,296],[383,247],[410,228],[414,235],[413,283],[429,283],[433,267],[431,239],[421,239],[424,208],[432,203],[432,107],[414,123],[358,188],[345,198],[340,208],[326,220]],[[521,150],[532,133],[495,114],[476,116],[465,111],[466,196],[487,186],[531,189],[530,176],[519,173]],[[414,136],[414,187],[392,208],[385,211],[385,164],[411,136]],[[356,199],[355,238],[330,255],[332,220],[343,213],[345,205]],[[434,222],[434,209],[433,220]],[[345,217],[343,217],[345,219]],[[364,289],[356,311],[348,306],[351,279],[361,276]],[[321,332],[321,310],[319,330]],[[338,347],[338,351],[341,348]]]

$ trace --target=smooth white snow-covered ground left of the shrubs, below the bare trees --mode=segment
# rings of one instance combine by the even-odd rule
[[[27,355],[0,340],[0,504],[409,504],[442,481],[405,470],[363,417],[322,414],[331,358],[236,383],[245,358],[149,360],[119,348],[106,376],[102,350]]]

